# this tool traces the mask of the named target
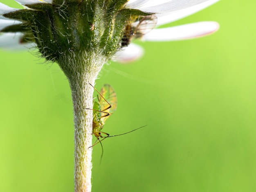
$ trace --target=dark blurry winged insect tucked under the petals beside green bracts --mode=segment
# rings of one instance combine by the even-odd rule
[[[124,35],[121,40],[121,46],[126,47],[130,44],[133,37],[140,38],[155,28],[157,16],[139,16],[135,22],[129,22],[124,28]]]

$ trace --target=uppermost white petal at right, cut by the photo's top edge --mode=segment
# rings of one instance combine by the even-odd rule
[[[180,9],[186,9],[208,0],[171,0],[163,4],[158,4],[152,7],[141,7],[139,10],[148,13],[170,13]]]

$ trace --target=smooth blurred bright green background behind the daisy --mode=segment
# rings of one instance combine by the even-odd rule
[[[101,165],[94,147],[94,192],[256,191],[255,7],[222,0],[168,25],[215,20],[217,33],[137,41],[141,60],[104,66],[96,88],[109,83],[118,99],[104,132],[148,126],[106,139]],[[67,79],[29,52],[0,58],[0,191],[73,191]]]

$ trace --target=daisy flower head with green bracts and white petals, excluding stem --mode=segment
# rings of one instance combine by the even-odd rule
[[[16,0],[25,9],[0,3],[0,47],[37,47],[47,60],[66,51],[97,50],[107,60],[126,62],[143,49],[132,39],[183,40],[218,29],[216,22],[197,22],[157,29],[189,16],[218,0]],[[156,28],[156,29],[154,29]]]

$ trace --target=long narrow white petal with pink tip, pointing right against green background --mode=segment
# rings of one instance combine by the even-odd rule
[[[143,36],[147,41],[174,41],[196,38],[209,35],[219,28],[219,24],[213,21],[196,22],[163,29],[153,29]]]

